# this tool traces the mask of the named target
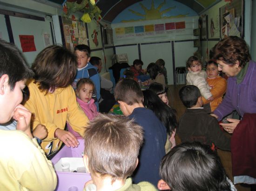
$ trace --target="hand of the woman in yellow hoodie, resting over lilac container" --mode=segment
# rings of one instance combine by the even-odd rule
[[[55,135],[58,139],[60,139],[68,147],[72,146],[74,148],[79,145],[79,142],[76,139],[76,137],[74,136],[74,134],[72,134],[68,131],[58,128],[55,130]]]

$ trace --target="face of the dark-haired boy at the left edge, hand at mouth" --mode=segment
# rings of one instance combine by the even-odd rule
[[[14,114],[15,108],[22,101],[22,89],[26,86],[26,80],[21,80],[16,82],[13,90],[10,89],[10,86],[5,84],[6,90],[4,94],[1,95],[0,106],[4,110],[0,115],[0,123],[6,123],[11,120]]]

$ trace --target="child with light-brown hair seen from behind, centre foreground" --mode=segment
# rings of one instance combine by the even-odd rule
[[[143,142],[143,129],[134,120],[99,115],[91,121],[84,140],[84,164],[94,183],[86,183],[86,191],[156,191],[148,182],[133,185],[128,178],[138,164]]]

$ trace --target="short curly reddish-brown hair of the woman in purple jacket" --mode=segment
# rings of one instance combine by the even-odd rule
[[[211,50],[213,59],[221,60],[225,64],[235,65],[239,61],[239,66],[244,67],[251,59],[249,46],[243,38],[229,36],[223,38]]]

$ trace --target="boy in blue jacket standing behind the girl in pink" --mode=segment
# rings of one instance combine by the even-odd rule
[[[101,78],[97,72],[97,67],[93,66],[90,61],[91,50],[88,45],[77,45],[74,47],[74,53],[77,57],[77,71],[74,77],[72,87],[76,89],[78,80],[81,78],[90,78],[94,82],[95,86],[95,105],[97,111],[99,111],[99,100],[101,99]]]

